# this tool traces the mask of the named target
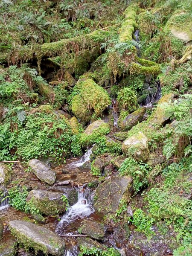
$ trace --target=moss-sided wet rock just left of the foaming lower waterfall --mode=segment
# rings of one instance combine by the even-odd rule
[[[32,190],[26,201],[35,206],[41,214],[56,215],[64,212],[66,203],[62,200],[62,193],[44,190]]]

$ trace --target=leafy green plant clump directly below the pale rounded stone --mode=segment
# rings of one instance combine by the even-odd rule
[[[139,192],[143,186],[148,185],[147,174],[150,171],[150,166],[142,162],[137,163],[137,161],[131,157],[126,158],[119,169],[122,175],[130,175],[133,177],[135,193]]]

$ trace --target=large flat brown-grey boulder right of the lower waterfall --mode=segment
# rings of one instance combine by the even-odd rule
[[[132,183],[128,176],[105,180],[96,189],[94,207],[103,214],[115,213],[121,199],[133,195]]]

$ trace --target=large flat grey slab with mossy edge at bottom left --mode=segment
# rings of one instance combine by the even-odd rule
[[[17,237],[17,241],[26,248],[34,248],[36,251],[42,250],[55,256],[64,253],[65,243],[54,232],[45,227],[38,226],[27,221],[9,221],[12,234]]]

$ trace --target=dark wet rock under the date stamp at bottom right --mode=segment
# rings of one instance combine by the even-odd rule
[[[147,256],[172,255],[172,250],[177,247],[177,244],[172,243],[175,237],[171,231],[167,230],[166,235],[162,235],[156,226],[152,227],[152,231],[154,235],[148,240],[144,233],[134,230],[130,237],[130,245],[140,249]]]

